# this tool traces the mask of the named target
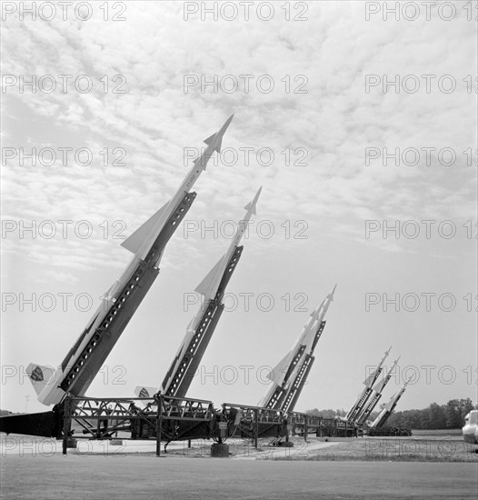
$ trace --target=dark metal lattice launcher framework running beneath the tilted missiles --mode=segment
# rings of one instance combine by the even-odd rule
[[[151,440],[156,442],[156,455],[161,443],[191,439],[213,439],[223,443],[230,438],[272,438],[271,445],[284,445],[289,435],[317,436],[357,435],[351,422],[322,418],[318,415],[285,413],[260,406],[224,403],[214,409],[211,401],[155,395],[134,398],[66,398],[57,412],[56,428],[63,439],[66,455],[72,438],[105,440]]]

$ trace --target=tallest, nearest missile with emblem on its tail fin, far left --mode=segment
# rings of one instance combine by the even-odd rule
[[[205,139],[207,147],[204,153],[194,161],[173,198],[124,240],[122,246],[134,255],[133,259],[105,293],[85,331],[58,369],[28,365],[26,372],[38,400],[44,405],[56,405],[67,394],[85,395],[158,275],[164,247],[194,202],[196,194],[191,192],[191,188],[214,152],[221,152],[223,135],[233,116],[218,132]]]

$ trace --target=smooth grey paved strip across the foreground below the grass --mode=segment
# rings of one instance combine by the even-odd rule
[[[476,499],[476,464],[3,455],[2,498]]]

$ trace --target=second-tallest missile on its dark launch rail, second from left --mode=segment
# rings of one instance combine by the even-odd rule
[[[197,367],[203,358],[205,349],[214,333],[214,328],[224,310],[225,288],[242,254],[243,246],[239,246],[239,244],[251,217],[256,214],[255,207],[261,191],[262,187],[257,191],[254,199],[244,206],[244,210],[246,210],[244,219],[239,221],[227,252],[204,277],[204,280],[196,286],[195,292],[204,297],[204,304],[199,307],[194,318],[187,326],[183,342],[164,376],[163,384],[159,389],[137,386],[134,389],[136,395],[144,395],[145,392],[151,394],[152,390],[154,392],[159,390],[161,394],[177,397],[186,395],[189,386],[193,382]]]

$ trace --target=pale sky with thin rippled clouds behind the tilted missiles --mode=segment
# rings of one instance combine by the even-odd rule
[[[476,11],[43,4],[2,11],[3,409],[45,411],[26,366],[61,363],[129,262],[124,237],[233,113],[87,395],[160,384],[195,286],[263,186],[188,395],[256,405],[337,284],[297,410],[350,408],[390,345],[383,401],[411,376],[399,410],[476,402]]]

